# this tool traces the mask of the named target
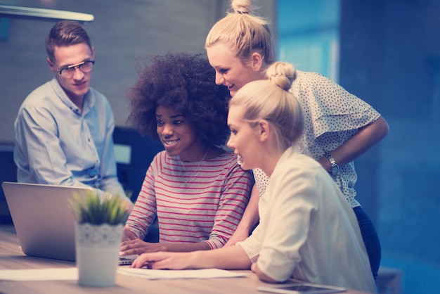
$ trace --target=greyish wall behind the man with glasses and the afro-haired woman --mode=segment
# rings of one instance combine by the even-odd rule
[[[127,88],[146,54],[205,53],[205,38],[228,9],[228,0],[7,0],[1,4],[89,13],[85,27],[95,47],[91,86],[107,96],[115,123],[127,127]],[[6,2],[6,3],[5,3]],[[257,0],[273,19],[276,0]],[[53,77],[44,38],[55,20],[0,18],[0,142],[13,141],[13,122],[30,92]]]

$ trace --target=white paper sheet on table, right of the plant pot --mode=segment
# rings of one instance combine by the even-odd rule
[[[224,269],[185,269],[181,271],[164,269],[117,269],[118,274],[137,276],[143,279],[214,279],[214,278],[237,278],[246,276],[243,273],[226,271]]]

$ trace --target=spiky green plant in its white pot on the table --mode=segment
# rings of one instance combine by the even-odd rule
[[[113,286],[119,260],[119,246],[125,219],[121,198],[94,191],[75,195],[75,254],[78,283],[83,286]]]

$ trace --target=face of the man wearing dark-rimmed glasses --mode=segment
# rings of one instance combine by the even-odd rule
[[[86,60],[95,60],[93,48],[90,49],[85,43],[55,47],[53,55],[55,60],[47,58],[49,68],[55,74],[67,97],[77,106],[81,107],[82,98],[89,91],[91,72],[82,72],[79,68],[76,68],[72,77],[64,77],[60,75],[59,71],[67,65],[75,65]]]

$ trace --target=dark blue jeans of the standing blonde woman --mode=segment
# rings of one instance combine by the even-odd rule
[[[363,238],[363,243],[367,249],[368,258],[370,259],[371,272],[374,278],[377,278],[377,271],[380,266],[380,241],[379,236],[377,236],[377,231],[373,221],[368,217],[368,215],[363,211],[361,206],[354,207],[354,214],[356,215],[359,223],[359,229],[361,229],[361,234]]]

